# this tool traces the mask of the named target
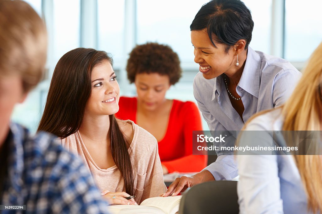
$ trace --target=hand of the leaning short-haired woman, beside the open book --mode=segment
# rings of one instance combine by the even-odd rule
[[[166,197],[168,195],[175,196],[179,194],[179,192],[184,192],[188,187],[192,187],[199,183],[203,183],[206,181],[214,181],[213,175],[208,171],[204,170],[200,173],[197,173],[193,176],[182,176],[180,178],[176,178],[173,183],[170,184],[166,193],[163,193],[160,196]]]

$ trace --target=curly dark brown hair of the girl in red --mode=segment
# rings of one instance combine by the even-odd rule
[[[181,77],[179,57],[168,45],[148,42],[137,45],[129,55],[126,70],[130,83],[141,73],[167,75],[171,85],[177,83]]]

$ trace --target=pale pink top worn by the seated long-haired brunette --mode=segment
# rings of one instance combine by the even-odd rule
[[[140,204],[143,200],[156,197],[166,191],[163,180],[158,146],[154,138],[131,120],[126,120],[133,127],[133,140],[128,151],[134,172],[135,201]],[[94,176],[100,191],[125,191],[124,180],[117,166],[107,169],[99,168],[90,156],[79,131],[61,140],[63,147],[80,156]]]

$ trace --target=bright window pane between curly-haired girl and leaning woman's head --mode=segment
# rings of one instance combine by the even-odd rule
[[[137,43],[151,41],[167,44],[179,55],[183,64],[194,65],[190,24],[204,3],[204,0],[189,3],[164,0],[162,4],[150,0],[137,1]]]

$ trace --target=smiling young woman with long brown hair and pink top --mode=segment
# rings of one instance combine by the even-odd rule
[[[58,61],[38,130],[81,156],[113,204],[136,204],[166,188],[156,139],[117,120],[119,86],[105,51],[77,48]],[[135,195],[133,199],[125,197]]]

